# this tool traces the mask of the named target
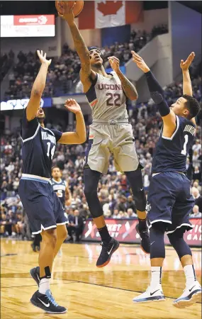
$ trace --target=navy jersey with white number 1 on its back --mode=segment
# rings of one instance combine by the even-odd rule
[[[165,138],[161,130],[152,161],[152,173],[186,173],[186,157],[193,144],[195,131],[196,126],[181,116],[176,116],[176,130],[171,138]]]

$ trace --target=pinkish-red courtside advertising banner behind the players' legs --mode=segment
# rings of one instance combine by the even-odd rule
[[[194,228],[186,232],[184,239],[189,245],[201,246],[201,218],[191,218],[190,222]],[[116,238],[119,242],[140,243],[140,236],[135,230],[138,220],[134,219],[107,219],[106,225],[111,237]],[[101,237],[92,220],[86,220],[85,228],[82,234],[82,240],[98,242]],[[167,235],[165,235],[165,244],[169,245]]]

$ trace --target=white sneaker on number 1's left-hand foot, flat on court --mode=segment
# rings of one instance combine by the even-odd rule
[[[151,289],[149,286],[145,293],[133,298],[133,303],[150,303],[154,301],[165,301],[162,286],[157,286],[155,289]]]

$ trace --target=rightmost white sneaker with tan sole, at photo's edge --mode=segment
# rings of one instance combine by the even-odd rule
[[[184,289],[182,295],[172,303],[176,308],[185,308],[201,301],[201,285],[198,281],[189,288]]]

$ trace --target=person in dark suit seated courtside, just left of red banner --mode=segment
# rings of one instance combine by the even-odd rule
[[[73,232],[76,235],[76,242],[79,242],[80,235],[84,228],[84,220],[82,216],[79,216],[79,211],[76,209],[74,211],[74,217],[72,218],[71,223],[67,225],[67,232],[69,235],[69,240],[73,241]]]

